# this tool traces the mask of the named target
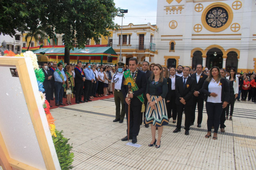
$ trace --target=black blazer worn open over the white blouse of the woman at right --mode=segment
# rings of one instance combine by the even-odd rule
[[[227,82],[226,78],[221,78],[221,102],[229,102],[230,98],[230,83]],[[207,102],[208,96],[210,96],[210,92],[208,89],[209,82],[205,81],[203,85],[203,93],[205,94],[204,101]]]

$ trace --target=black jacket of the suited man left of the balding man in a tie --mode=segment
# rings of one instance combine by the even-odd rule
[[[187,87],[187,85],[189,85],[189,87]],[[195,86],[196,86],[196,80],[190,76],[186,80],[185,89],[183,88],[183,77],[179,77],[179,78],[175,79],[175,93],[176,93],[176,102],[175,103],[177,105],[183,105],[180,102],[180,97],[183,97],[183,99],[186,102],[186,105],[192,105],[193,104],[192,96],[195,91]]]

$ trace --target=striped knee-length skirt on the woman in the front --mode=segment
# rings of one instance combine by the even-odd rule
[[[153,102],[156,100],[159,96],[150,96],[151,101]],[[152,109],[149,107],[149,103],[147,104],[147,110],[146,110],[146,124],[153,124],[154,126],[160,127],[163,125],[168,125],[168,116],[166,111],[166,103],[165,99],[162,99],[161,101],[157,102],[155,105],[156,109]]]

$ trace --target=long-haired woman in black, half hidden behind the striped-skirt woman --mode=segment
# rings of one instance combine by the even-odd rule
[[[168,93],[165,97],[165,101],[166,101],[166,110],[167,110],[167,116],[168,116],[168,121],[169,121],[171,119],[171,115],[172,115],[172,106],[171,106],[172,80],[170,79],[170,74],[166,67],[163,67],[163,77],[166,78],[167,85],[168,85]],[[174,102],[174,101],[172,101],[172,102]]]

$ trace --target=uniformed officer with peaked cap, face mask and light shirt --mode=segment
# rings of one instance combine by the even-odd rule
[[[113,75],[112,78],[112,89],[113,89],[113,95],[115,99],[116,104],[116,119],[113,120],[113,122],[122,123],[124,122],[125,118],[125,102],[124,102],[124,96],[121,91],[121,85],[122,85],[122,77],[125,69],[125,64],[122,62],[117,63],[118,70],[117,73]],[[120,109],[120,104],[122,105],[122,110]],[[121,110],[121,114],[120,114]]]

